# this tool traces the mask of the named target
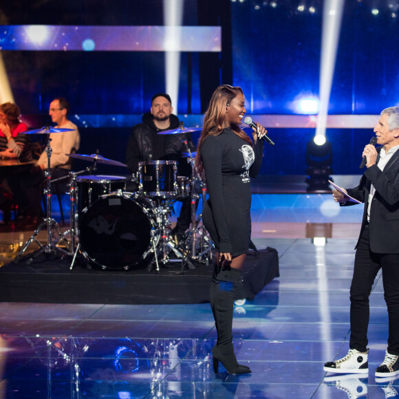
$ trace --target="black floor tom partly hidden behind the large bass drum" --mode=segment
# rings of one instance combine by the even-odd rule
[[[101,195],[114,193],[116,190],[125,191],[126,177],[108,175],[85,175],[76,177],[78,186],[78,212],[90,206]]]

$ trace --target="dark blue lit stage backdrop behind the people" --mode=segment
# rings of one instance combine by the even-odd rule
[[[298,100],[319,96],[324,3],[184,0],[182,25],[193,32],[198,27],[211,31],[193,34],[195,46],[181,53],[180,119],[186,126],[201,125],[208,100],[222,83],[243,87],[254,120],[261,114],[299,113]],[[151,47],[156,40],[148,42],[147,51],[118,50],[135,40],[139,43],[121,32],[141,26],[140,38],[148,40],[148,32],[158,29],[149,27],[164,25],[163,1],[18,0],[1,4],[0,14],[0,54],[14,100],[30,127],[45,124],[52,98],[65,96],[82,134],[80,153],[98,149],[123,162],[131,125],[149,110],[151,96],[165,89],[165,53]],[[345,1],[330,114],[373,114],[377,122],[383,108],[399,104],[398,15],[398,0]],[[34,30],[21,30],[20,25],[34,25]],[[47,39],[42,25],[52,27]],[[220,28],[221,43],[217,35],[209,36],[215,34],[213,27]],[[100,36],[108,32],[107,43],[100,36],[78,36],[74,30]],[[43,49],[46,40],[50,47]],[[81,51],[77,40],[82,41]],[[212,50],[214,41],[220,51]],[[305,174],[305,148],[315,129],[268,130],[276,145],[266,145],[261,173]],[[372,128],[327,129],[326,134],[332,143],[334,174],[360,173],[361,152]]]

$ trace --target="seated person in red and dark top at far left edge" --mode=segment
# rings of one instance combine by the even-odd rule
[[[0,105],[0,165],[25,163],[32,161],[28,136],[20,134],[28,127],[21,122],[21,111],[17,104],[3,103]],[[0,169],[0,206],[3,209],[3,222],[10,220],[10,208],[14,201],[19,204],[19,193],[12,193],[10,181],[17,180],[18,175],[24,173],[20,167],[1,167]],[[14,197],[12,199],[12,197]],[[20,205],[20,204],[19,204]]]

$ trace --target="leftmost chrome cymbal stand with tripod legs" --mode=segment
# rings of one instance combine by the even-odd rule
[[[52,208],[51,208],[52,189],[51,189],[51,183],[50,183],[50,181],[51,181],[50,158],[52,155],[52,148],[50,147],[51,140],[52,139],[50,138],[50,134],[49,134],[49,136],[47,138],[47,147],[45,149],[45,152],[47,153],[47,171],[45,171],[45,178],[46,178],[47,184],[46,184],[44,193],[47,198],[47,215],[46,215],[46,217],[43,217],[43,222],[41,222],[39,227],[36,228],[36,230],[34,230],[32,237],[30,237],[30,239],[28,239],[28,241],[26,241],[25,245],[21,249],[21,252],[19,252],[17,257],[15,257],[15,259],[13,260],[14,263],[19,263],[19,260],[21,259],[21,257],[23,256],[23,254],[28,249],[30,244],[32,244],[33,241],[35,241],[36,244],[38,244],[41,249],[38,252],[36,252],[34,254],[34,256],[32,256],[30,259],[28,259],[28,261],[26,261],[27,264],[32,263],[33,259],[35,257],[38,257],[39,255],[41,255],[41,253],[43,253],[43,252],[46,255],[55,256],[57,247],[54,245],[54,243],[52,243],[52,228],[54,228],[56,235],[58,237],[61,237],[60,227],[58,226],[57,222],[54,219],[52,219]],[[36,236],[39,234],[39,232],[41,230],[43,230],[43,228],[45,228],[45,226],[47,226],[47,245],[43,246],[36,239]]]

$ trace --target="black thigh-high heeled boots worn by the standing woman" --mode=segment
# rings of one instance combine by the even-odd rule
[[[210,302],[217,330],[217,344],[212,349],[213,369],[217,373],[219,361],[229,374],[250,373],[247,366],[239,365],[233,348],[233,302],[240,270],[230,268],[214,272]]]

